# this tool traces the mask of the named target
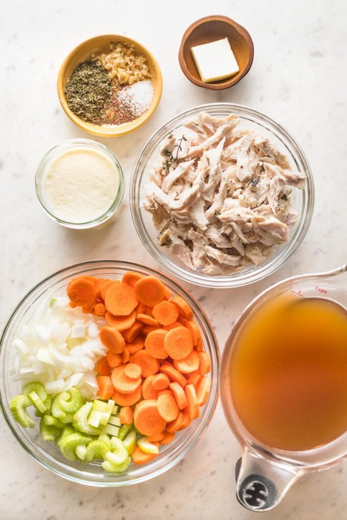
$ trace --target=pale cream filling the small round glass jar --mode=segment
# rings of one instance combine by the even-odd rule
[[[47,167],[43,192],[47,209],[66,222],[81,224],[103,215],[119,188],[117,166],[101,151],[73,148]]]

